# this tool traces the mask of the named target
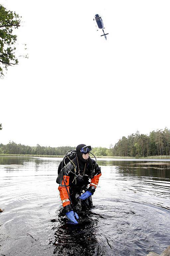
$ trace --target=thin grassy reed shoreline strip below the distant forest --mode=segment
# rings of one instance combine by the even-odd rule
[[[63,158],[64,156],[59,155],[20,155],[20,154],[0,154],[2,156],[12,156],[12,157],[53,157],[53,158]],[[93,157],[92,157],[93,158]],[[148,156],[148,157],[124,157],[124,156],[96,156],[96,158],[110,158],[110,159],[169,159],[170,156]]]

